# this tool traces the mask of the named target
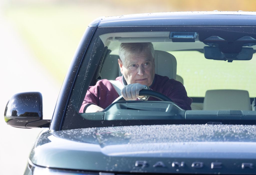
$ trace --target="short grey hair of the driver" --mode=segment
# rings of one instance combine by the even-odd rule
[[[119,57],[124,62],[127,55],[137,55],[140,53],[151,53],[154,58],[154,47],[152,43],[121,43],[119,47]]]

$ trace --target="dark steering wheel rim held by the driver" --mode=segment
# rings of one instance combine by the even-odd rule
[[[167,102],[173,102],[169,97],[167,97],[166,95],[160,93],[160,92],[156,92],[156,91],[152,91],[152,90],[148,90],[148,89],[142,89],[140,90],[140,93],[139,93],[140,96],[151,96],[151,97],[155,97],[155,98],[158,98],[162,101],[167,101]],[[115,99],[114,102],[117,102],[117,101],[124,101],[124,97],[121,95],[119,96],[118,98]],[[174,102],[173,102],[174,103]]]

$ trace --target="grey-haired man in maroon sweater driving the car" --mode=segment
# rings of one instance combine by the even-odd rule
[[[172,99],[178,106],[191,110],[192,99],[182,83],[155,74],[154,48],[152,43],[122,43],[119,49],[118,64],[123,76],[117,77],[123,85],[121,94],[125,100],[158,100],[153,97],[139,97],[142,89],[152,89]],[[106,79],[90,86],[80,112],[104,110],[119,95],[112,83]]]

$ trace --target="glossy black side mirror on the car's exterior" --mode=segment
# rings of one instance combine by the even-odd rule
[[[48,128],[50,120],[43,120],[42,94],[18,93],[9,99],[4,112],[5,122],[17,128]]]

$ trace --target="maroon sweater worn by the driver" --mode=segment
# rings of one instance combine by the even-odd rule
[[[122,77],[117,77],[116,81],[120,81],[122,84],[124,84]],[[187,96],[185,87],[179,81],[155,74],[155,78],[150,86],[150,89],[166,95],[179,107],[185,110],[191,110],[190,105],[192,103],[192,99]],[[105,109],[117,97],[119,97],[119,95],[112,83],[106,79],[100,80],[96,83],[96,85],[90,86],[87,90],[79,112],[82,113],[88,104],[94,104]],[[148,100],[159,101],[159,99],[154,97],[149,97]]]

